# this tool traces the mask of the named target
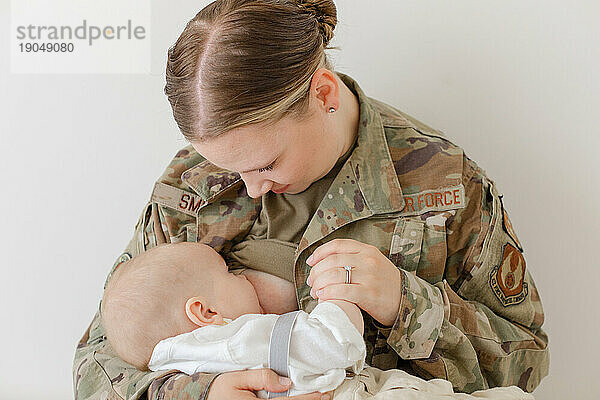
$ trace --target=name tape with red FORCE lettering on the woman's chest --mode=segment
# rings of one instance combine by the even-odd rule
[[[419,215],[429,211],[447,211],[465,207],[465,188],[462,184],[415,194],[403,194],[401,216]]]

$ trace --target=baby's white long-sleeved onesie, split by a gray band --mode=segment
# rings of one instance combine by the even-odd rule
[[[245,314],[226,325],[167,338],[154,348],[148,368],[189,375],[268,368],[269,339],[278,317]],[[290,339],[288,370],[293,383],[288,395],[334,390],[346,377],[346,368],[355,374],[363,369],[365,357],[363,337],[340,307],[324,301],[310,314],[300,311]]]

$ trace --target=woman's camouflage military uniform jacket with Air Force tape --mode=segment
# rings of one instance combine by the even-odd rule
[[[544,314],[494,181],[442,133],[338,75],[358,96],[359,132],[293,252],[298,307],[317,304],[306,259],[319,245],[372,244],[401,270],[402,296],[393,326],[363,311],[370,366],[447,379],[463,392],[532,391],[548,373]],[[115,266],[165,242],[198,241],[227,255],[260,212],[238,174],[188,146],[155,184]],[[99,313],[73,364],[79,399],[204,399],[216,376],[137,371],[115,355]]]

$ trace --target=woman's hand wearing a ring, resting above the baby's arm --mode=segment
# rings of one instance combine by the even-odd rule
[[[353,239],[334,239],[306,260],[306,284],[320,300],[356,303],[379,323],[391,326],[400,307],[402,273],[378,248]],[[350,284],[344,265],[352,266]]]

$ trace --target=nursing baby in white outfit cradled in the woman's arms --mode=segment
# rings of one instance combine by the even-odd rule
[[[263,299],[285,291],[250,271]],[[268,367],[278,315],[265,314],[244,272],[228,271],[216,251],[199,243],[141,253],[113,272],[104,291],[107,339],[119,357],[140,370],[193,374]],[[265,295],[267,287],[271,293]],[[366,355],[362,335],[362,314],[353,303],[330,300],[310,314],[300,311],[290,342],[289,395],[333,390],[346,368],[360,372]]]

